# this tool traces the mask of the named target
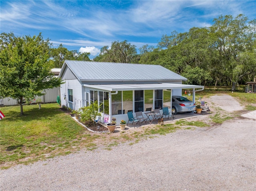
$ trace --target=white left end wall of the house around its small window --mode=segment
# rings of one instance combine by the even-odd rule
[[[68,101],[68,89],[73,90],[73,102]],[[66,99],[64,99],[64,95],[66,95]],[[61,105],[77,110],[80,108],[82,99],[82,85],[78,80],[66,80],[66,83],[60,86]]]

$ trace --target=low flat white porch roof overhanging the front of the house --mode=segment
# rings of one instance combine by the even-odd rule
[[[204,86],[155,83],[155,84],[104,84],[104,85],[88,85],[84,87],[100,89],[104,91],[130,91],[130,90],[153,90],[153,89],[204,89]]]

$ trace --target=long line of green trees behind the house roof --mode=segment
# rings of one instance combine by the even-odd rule
[[[0,43],[8,44],[13,38],[13,33],[2,33]],[[54,67],[62,67],[64,60],[90,61],[90,53],[69,51],[62,44],[51,48],[46,41]],[[242,14],[220,16],[207,28],[173,31],[162,35],[157,47],[144,45],[139,50],[138,54],[126,40],[113,41],[93,61],[162,65],[186,77],[188,84],[232,85],[232,91],[236,84],[256,81],[256,19]]]

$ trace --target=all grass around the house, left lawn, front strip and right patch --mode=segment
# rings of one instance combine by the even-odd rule
[[[223,92],[197,92],[196,100],[199,97],[203,99],[220,93]],[[246,110],[256,110],[256,94],[230,92],[228,94],[238,98],[240,103],[246,106]],[[192,95],[184,96],[192,100]],[[7,106],[0,109],[6,116],[0,120],[1,169],[18,163],[28,164],[70,154],[84,148],[90,151],[103,146],[111,150],[112,147],[126,141],[136,144],[142,139],[155,137],[157,134],[165,135],[181,128],[190,130],[193,126],[208,126],[204,122],[179,120],[175,124],[141,127],[136,131],[95,134],[85,130],[68,116],[68,113],[62,112],[56,103],[42,104],[40,110],[38,105],[24,105],[24,116],[20,116],[20,106]]]

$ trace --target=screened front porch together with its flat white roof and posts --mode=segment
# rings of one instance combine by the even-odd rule
[[[178,85],[178,84],[123,84],[123,85],[84,85],[90,90],[86,96],[86,104],[98,101],[99,111],[102,112],[102,122],[110,122],[112,117],[117,121],[128,120],[127,112],[150,111],[168,107],[171,111],[171,97],[174,90],[193,89],[201,91],[203,86]],[[98,89],[99,88],[99,89]],[[96,90],[97,89],[97,90]],[[104,91],[100,90],[104,89]],[[196,90],[197,89],[197,90]]]

